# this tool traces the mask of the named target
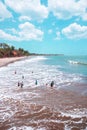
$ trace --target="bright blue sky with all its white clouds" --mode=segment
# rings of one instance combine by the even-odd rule
[[[0,0],[0,42],[30,53],[87,55],[87,0]]]

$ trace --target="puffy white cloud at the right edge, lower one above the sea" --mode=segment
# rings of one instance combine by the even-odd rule
[[[81,39],[87,38],[87,26],[81,26],[77,23],[73,23],[62,30],[64,34],[69,39]]]

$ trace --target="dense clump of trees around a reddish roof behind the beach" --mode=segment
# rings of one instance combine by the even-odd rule
[[[14,46],[10,46],[7,43],[0,43],[0,58],[28,55],[30,55],[30,53],[23,48],[16,49]]]

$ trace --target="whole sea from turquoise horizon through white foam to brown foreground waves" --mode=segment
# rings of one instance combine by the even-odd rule
[[[1,67],[0,130],[87,130],[87,56],[31,56]]]

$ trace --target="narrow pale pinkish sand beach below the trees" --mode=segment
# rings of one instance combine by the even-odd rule
[[[26,58],[26,56],[0,58],[0,67],[7,66],[10,63],[20,61],[20,60],[25,59],[25,58]]]

